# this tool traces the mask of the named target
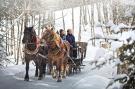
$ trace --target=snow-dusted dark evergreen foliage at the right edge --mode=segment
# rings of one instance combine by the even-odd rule
[[[135,89],[135,41],[131,44],[124,44],[119,51],[121,65],[126,65],[125,71],[128,77],[127,81],[124,80],[123,89]]]

